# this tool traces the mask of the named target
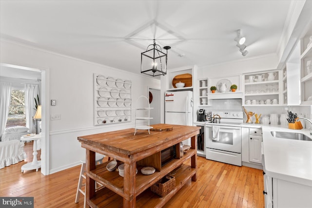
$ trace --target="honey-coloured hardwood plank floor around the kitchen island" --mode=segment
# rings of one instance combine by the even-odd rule
[[[27,161],[0,170],[0,196],[32,196],[35,208],[82,208],[82,194],[75,203],[80,166],[47,176],[36,170],[21,173],[20,167],[32,161],[32,148],[32,142],[25,144]],[[262,170],[203,157],[197,165],[197,182],[187,183],[164,208],[264,208]]]

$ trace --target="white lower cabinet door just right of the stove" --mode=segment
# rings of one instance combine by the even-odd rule
[[[249,161],[261,164],[262,136],[249,135]]]

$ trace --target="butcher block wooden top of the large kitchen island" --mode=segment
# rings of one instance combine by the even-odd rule
[[[171,147],[177,143],[177,138],[183,141],[197,135],[200,129],[200,127],[194,126],[168,126],[172,127],[173,130],[151,131],[151,134],[149,134],[146,130],[139,130],[136,135],[134,135],[135,129],[124,129],[114,132],[79,136],[78,141],[87,145],[97,146],[97,148],[105,148],[116,153],[131,155],[150,148],[162,146],[164,144],[166,147],[163,147],[162,149]]]

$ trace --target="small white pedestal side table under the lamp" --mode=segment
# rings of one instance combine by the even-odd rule
[[[23,165],[21,167],[21,172],[24,172],[24,170],[35,170],[38,171],[39,168],[41,168],[41,161],[37,160],[37,140],[41,139],[41,135],[40,134],[36,134],[34,136],[31,136],[31,137],[20,137],[20,140],[21,141],[34,141],[34,147],[33,147],[33,161],[32,162],[29,162],[29,163],[26,163],[25,165]]]

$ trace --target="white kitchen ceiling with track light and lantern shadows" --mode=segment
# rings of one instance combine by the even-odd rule
[[[276,54],[291,0],[1,0],[0,38],[140,73],[149,44],[168,69]],[[249,54],[235,46],[246,36]]]

